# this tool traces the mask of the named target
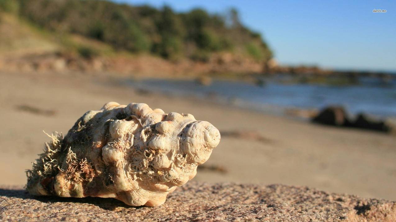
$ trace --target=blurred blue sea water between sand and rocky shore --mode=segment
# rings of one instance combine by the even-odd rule
[[[195,96],[232,103],[236,106],[282,114],[285,109],[322,109],[342,105],[352,115],[368,113],[378,117],[396,117],[396,79],[386,83],[373,77],[360,77],[354,84],[332,85],[299,83],[290,77],[262,79],[261,85],[245,81],[214,79],[210,85],[195,80],[127,80],[134,88]]]

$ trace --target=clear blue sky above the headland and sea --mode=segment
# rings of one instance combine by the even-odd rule
[[[284,65],[396,71],[396,1],[113,0],[131,5],[236,8],[247,27],[260,32]],[[373,13],[374,9],[386,10]]]

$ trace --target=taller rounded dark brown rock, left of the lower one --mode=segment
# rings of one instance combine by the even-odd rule
[[[350,126],[350,120],[342,106],[329,106],[312,118],[312,122],[331,126]]]

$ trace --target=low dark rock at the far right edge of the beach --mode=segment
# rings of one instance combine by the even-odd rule
[[[360,113],[356,120],[352,123],[353,127],[363,128],[367,130],[376,130],[382,132],[391,132],[392,126],[388,124],[386,121],[377,119],[370,115]]]

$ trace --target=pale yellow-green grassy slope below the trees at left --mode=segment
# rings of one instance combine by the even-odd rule
[[[50,32],[12,13],[0,12],[0,33],[0,55],[78,53],[81,49],[89,49],[95,55],[116,54],[112,46],[101,41],[77,34]]]

